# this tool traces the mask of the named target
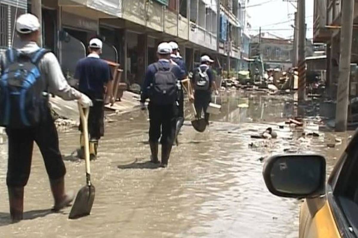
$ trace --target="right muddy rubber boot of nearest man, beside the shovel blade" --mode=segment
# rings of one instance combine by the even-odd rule
[[[54,199],[52,211],[57,212],[64,207],[71,205],[74,198],[74,192],[65,193],[64,177],[59,179],[50,179],[51,191]]]

